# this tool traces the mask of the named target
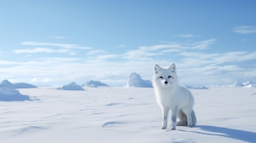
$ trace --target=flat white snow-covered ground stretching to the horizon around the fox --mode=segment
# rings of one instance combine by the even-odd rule
[[[256,142],[256,88],[190,89],[197,124],[174,131],[151,88],[85,89],[19,89],[39,100],[0,101],[1,142]]]

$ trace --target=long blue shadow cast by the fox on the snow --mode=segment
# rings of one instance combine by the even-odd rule
[[[256,141],[256,133],[245,131],[245,130],[228,129],[224,127],[216,127],[216,126],[208,126],[208,125],[195,125],[195,128],[200,128],[208,132],[216,133],[216,134],[213,134],[213,133],[211,134],[211,133],[202,133],[202,132],[193,131],[194,133],[198,133],[198,134],[223,136],[223,137],[228,137],[236,140],[243,140],[246,142]]]

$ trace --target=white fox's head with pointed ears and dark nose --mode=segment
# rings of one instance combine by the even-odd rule
[[[176,66],[169,67],[154,66],[154,84],[160,87],[172,87],[177,84]]]

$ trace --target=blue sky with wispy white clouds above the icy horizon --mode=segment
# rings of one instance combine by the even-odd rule
[[[181,84],[256,81],[256,2],[9,0],[0,4],[0,79],[36,85],[177,65]]]

